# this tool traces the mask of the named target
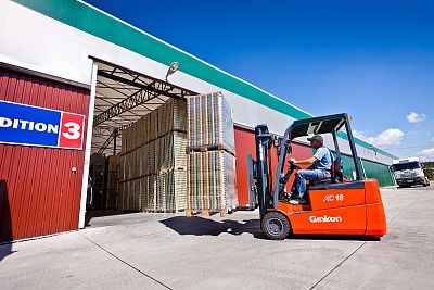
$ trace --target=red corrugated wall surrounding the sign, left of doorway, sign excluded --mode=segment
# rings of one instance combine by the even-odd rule
[[[0,100],[87,116],[89,94],[87,89],[0,68]],[[77,229],[84,161],[85,149],[0,144],[0,241]]]

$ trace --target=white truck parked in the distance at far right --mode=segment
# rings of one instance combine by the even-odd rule
[[[430,186],[430,180],[423,173],[422,163],[417,157],[394,160],[392,168],[399,187]]]

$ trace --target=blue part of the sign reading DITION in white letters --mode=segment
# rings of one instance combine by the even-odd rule
[[[0,143],[58,147],[61,114],[0,101]]]

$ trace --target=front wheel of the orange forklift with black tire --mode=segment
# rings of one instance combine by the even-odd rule
[[[284,240],[291,231],[286,216],[279,212],[269,212],[263,218],[263,231],[270,240]]]

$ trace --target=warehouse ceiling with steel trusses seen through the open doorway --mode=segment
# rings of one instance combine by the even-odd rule
[[[186,100],[187,96],[197,94],[165,80],[92,59],[98,62],[92,153],[118,153],[123,129],[169,98]]]

